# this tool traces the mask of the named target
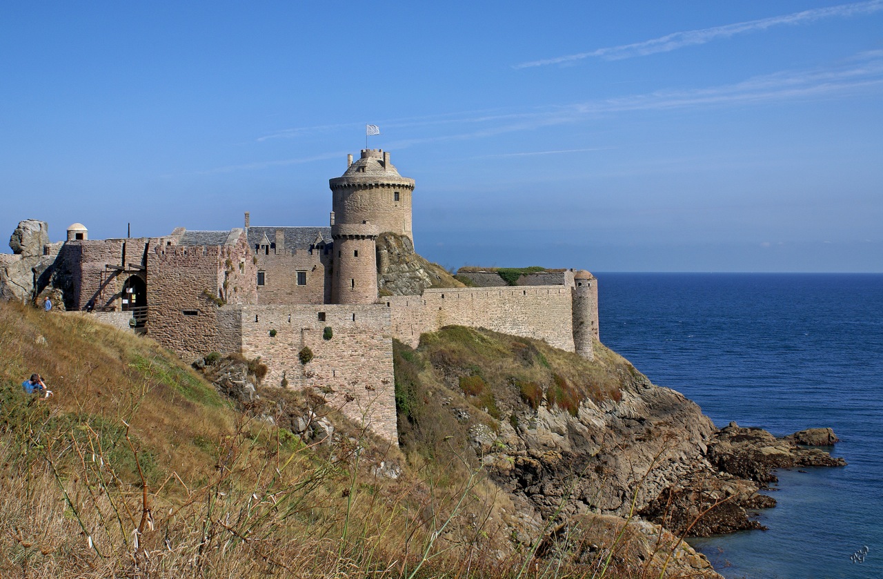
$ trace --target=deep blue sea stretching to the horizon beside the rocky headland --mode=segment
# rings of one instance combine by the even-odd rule
[[[726,577],[883,577],[883,275],[595,275],[601,341],[719,427],[841,438],[849,466],[779,471],[769,530],[691,544]]]

